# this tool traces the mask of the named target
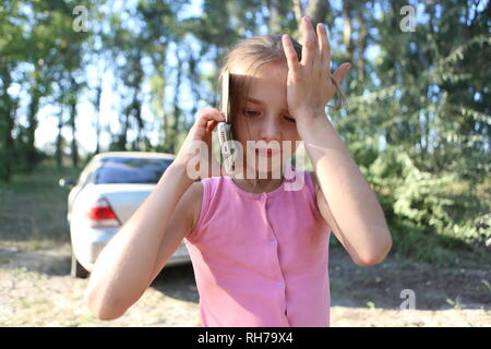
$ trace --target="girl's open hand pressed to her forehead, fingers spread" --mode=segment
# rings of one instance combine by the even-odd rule
[[[325,115],[325,106],[336,93],[350,63],[343,63],[331,74],[331,46],[324,24],[316,26],[315,37],[312,22],[308,16],[301,21],[302,59],[299,62],[290,37],[283,35],[283,47],[287,58],[287,103],[297,123],[308,121],[308,116]]]

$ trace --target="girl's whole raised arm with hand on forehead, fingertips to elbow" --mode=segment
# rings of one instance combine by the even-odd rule
[[[350,64],[346,62],[332,73],[326,28],[319,23],[315,29],[309,17],[301,21],[301,58],[289,36],[283,36],[288,109],[319,180],[322,216],[352,260],[369,266],[387,255],[392,237],[375,193],[325,115]]]

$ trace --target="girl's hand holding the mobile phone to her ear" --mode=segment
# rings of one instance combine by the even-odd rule
[[[204,142],[207,147],[207,161],[208,161],[208,173],[207,176],[202,174],[201,177],[215,176],[217,173],[212,173],[212,169],[219,169],[220,166],[213,155],[212,148],[212,132],[215,130],[218,122],[225,121],[221,112],[216,108],[204,108],[196,112],[196,118],[194,124],[191,127],[185,140],[179,149],[172,165],[188,167],[191,159],[195,158],[199,153],[197,145],[200,142]],[[203,161],[203,154],[200,154],[200,163]],[[194,170],[194,169],[193,169]],[[200,171],[200,167],[195,170]]]

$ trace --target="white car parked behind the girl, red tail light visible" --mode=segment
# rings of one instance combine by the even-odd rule
[[[156,186],[175,155],[144,152],[100,153],[88,163],[70,188],[68,221],[72,243],[73,277],[87,277],[98,254]],[[166,266],[189,263],[182,243]]]

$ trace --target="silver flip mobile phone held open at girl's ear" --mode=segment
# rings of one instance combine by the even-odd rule
[[[224,71],[221,76],[221,98],[220,111],[225,116],[225,122],[218,122],[218,142],[220,143],[220,153],[224,157],[225,170],[231,173],[235,169],[236,149],[231,137],[230,124],[230,72]]]

